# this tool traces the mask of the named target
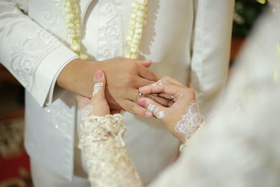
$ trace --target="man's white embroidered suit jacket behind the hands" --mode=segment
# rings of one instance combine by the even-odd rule
[[[122,56],[131,0],[80,0],[83,51],[90,60]],[[32,159],[73,176],[73,134],[79,122],[73,93],[55,85],[77,57],[69,49],[61,0],[0,0],[0,62],[26,94],[25,146]],[[197,92],[202,113],[221,95],[228,73],[234,0],[151,0],[141,58],[159,77],[173,76]],[[26,14],[25,14],[26,13]],[[57,99],[58,98],[58,99]],[[125,113],[125,142],[147,183],[176,157],[179,142],[155,119]]]

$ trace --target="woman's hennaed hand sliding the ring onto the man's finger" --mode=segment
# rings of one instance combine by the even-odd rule
[[[153,99],[148,97],[142,97],[138,99],[137,103],[140,106],[146,107],[148,111],[153,112],[155,117],[159,118],[163,123],[165,123],[169,132],[171,132],[181,141],[185,142],[186,138],[188,138],[188,134],[192,135],[192,133],[188,132],[188,130],[186,131],[186,129],[179,133],[179,130],[175,130],[177,126],[188,126],[188,128],[191,128],[190,131],[193,130],[193,132],[195,132],[197,129],[196,125],[201,123],[200,120],[202,120],[202,118],[199,114],[197,105],[193,104],[193,101],[195,101],[195,91],[187,88],[174,78],[162,78],[157,83],[139,88],[139,92],[141,92],[143,95],[159,94],[162,97],[166,97],[167,99],[170,99],[171,96],[173,97],[172,99],[174,99],[174,102],[170,102],[169,107],[162,106],[161,104],[158,104],[158,102],[155,102]],[[191,109],[194,109],[194,116],[185,115],[188,113],[190,105],[192,105]],[[183,118],[184,115],[185,117]],[[196,123],[195,125],[190,124],[190,121],[186,119],[189,117],[192,119],[191,122]]]

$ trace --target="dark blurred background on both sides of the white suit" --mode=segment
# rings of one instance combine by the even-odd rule
[[[259,1],[236,0],[229,69],[234,66],[258,16],[267,7],[267,3]],[[24,88],[0,64],[0,187],[32,186],[29,158],[23,147],[24,100]]]

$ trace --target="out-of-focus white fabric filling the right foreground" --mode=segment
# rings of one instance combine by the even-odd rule
[[[244,47],[218,116],[151,187],[280,186],[280,11],[270,11]]]

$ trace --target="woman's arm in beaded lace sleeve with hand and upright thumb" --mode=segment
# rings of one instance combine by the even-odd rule
[[[80,148],[91,186],[142,186],[123,142],[123,116],[110,114],[105,85],[103,72],[97,71],[92,99],[77,97],[83,118]]]

